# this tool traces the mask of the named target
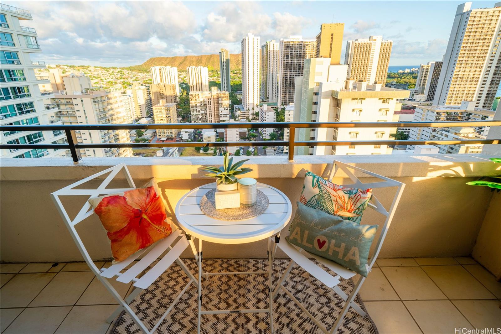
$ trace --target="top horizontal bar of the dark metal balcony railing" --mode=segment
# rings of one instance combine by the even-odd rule
[[[356,128],[356,127],[451,127],[500,126],[501,121],[450,122],[266,122],[266,123],[158,123],[158,124],[58,124],[58,125],[3,125],[0,131],[40,130],[134,130],[134,129],[235,129],[235,128]]]

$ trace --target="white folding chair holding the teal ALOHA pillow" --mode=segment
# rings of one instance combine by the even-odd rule
[[[345,187],[359,188],[359,189],[397,187],[395,197],[393,198],[393,202],[391,203],[389,210],[386,210],[384,208],[384,206],[378,201],[378,199],[374,194],[372,195],[372,198],[367,206],[368,208],[374,209],[375,211],[386,217],[384,224],[382,225],[382,231],[380,232],[379,238],[376,242],[374,254],[372,254],[372,257],[368,264],[370,272],[372,266],[376,262],[376,258],[379,254],[379,251],[381,250],[381,246],[383,245],[384,238],[386,237],[386,233],[388,232],[388,228],[390,227],[391,220],[393,219],[393,215],[395,214],[395,210],[397,208],[398,202],[400,201],[400,197],[404,190],[405,184],[336,160],[334,160],[334,162],[331,165],[331,170],[329,173],[329,181],[332,181],[332,179],[336,176],[336,173],[340,170],[343,171],[353,181],[353,184],[351,185],[343,185]],[[350,170],[358,171],[367,174],[369,176],[381,179],[383,181],[362,183]],[[373,224],[373,222],[371,222],[371,224]],[[325,259],[315,254],[311,254],[299,247],[293,246],[284,238],[276,237],[275,243],[276,243],[274,247],[275,250],[277,249],[277,246],[280,247],[280,249],[283,250],[284,253],[286,253],[287,256],[291,258],[291,263],[287,267],[285,273],[282,275],[279,283],[277,284],[277,287],[273,291],[274,297],[277,295],[280,289],[284,290],[284,292],[292,300],[294,300],[296,304],[298,304],[298,306],[320,327],[320,329],[322,329],[323,332],[330,334],[335,333],[336,330],[339,328],[350,306],[353,307],[353,309],[357,311],[357,313],[360,314],[361,316],[366,315],[364,310],[354,302],[355,296],[357,295],[358,291],[360,290],[360,287],[365,281],[365,277],[360,275],[360,279],[355,284],[355,288],[352,290],[350,295],[347,295],[338,286],[338,284],[341,282],[340,277],[344,279],[350,279],[357,274],[356,272],[347,269],[342,265],[337,264],[334,261]],[[313,261],[311,261],[310,260],[311,258],[317,260],[319,263],[332,270],[336,275],[333,276],[327,271],[325,271],[322,267],[318,266]],[[321,281],[328,288],[331,288],[336,294],[338,294],[341,298],[343,298],[343,300],[346,301],[343,309],[341,310],[341,313],[338,315],[334,323],[334,326],[331,328],[331,330],[327,330],[327,328],[324,327],[317,319],[315,319],[315,317],[301,304],[301,302],[296,297],[294,297],[294,295],[289,290],[287,290],[286,287],[284,287],[283,284],[285,282],[285,279],[287,278],[287,275],[290,273],[295,263],[301,266],[305,271],[310,273],[313,277]]]

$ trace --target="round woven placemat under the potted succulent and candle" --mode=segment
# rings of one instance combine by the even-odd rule
[[[257,191],[256,204],[252,207],[240,205],[239,208],[219,209],[215,206],[215,189],[208,191],[200,200],[200,209],[209,217],[221,220],[244,220],[261,215],[268,209],[270,201],[262,191]]]

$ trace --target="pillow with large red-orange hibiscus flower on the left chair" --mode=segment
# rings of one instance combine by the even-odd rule
[[[167,219],[154,179],[141,188],[92,198],[89,203],[108,232],[115,261],[125,260],[177,229]]]

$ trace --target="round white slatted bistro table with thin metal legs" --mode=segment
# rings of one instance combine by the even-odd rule
[[[263,183],[258,183],[270,201],[268,209],[261,215],[237,221],[219,220],[206,216],[200,210],[200,200],[209,190],[215,188],[215,182],[195,188],[184,195],[176,205],[176,218],[180,227],[186,232],[193,255],[198,263],[198,333],[200,333],[200,317],[202,314],[217,313],[270,313],[270,330],[273,329],[272,306],[272,263],[276,248],[272,246],[270,237],[280,236],[280,231],[289,223],[292,215],[291,201],[280,190]],[[193,238],[198,239],[198,252]],[[268,271],[253,272],[215,272],[203,273],[202,270],[202,240],[219,244],[244,244],[268,238]],[[202,276],[207,275],[238,275],[238,274],[268,274],[269,308],[265,309],[228,309],[202,310]]]

